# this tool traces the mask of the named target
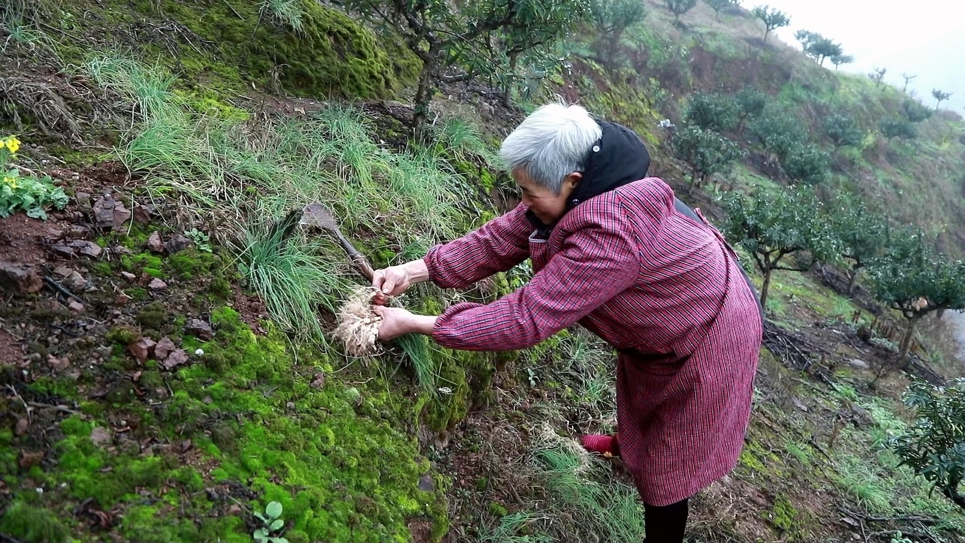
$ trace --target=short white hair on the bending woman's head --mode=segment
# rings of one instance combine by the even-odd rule
[[[538,185],[559,194],[567,175],[583,171],[584,160],[601,134],[583,107],[547,103],[506,136],[499,154],[510,171],[521,169]]]

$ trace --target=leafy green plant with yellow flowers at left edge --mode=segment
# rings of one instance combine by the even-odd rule
[[[46,208],[64,209],[69,197],[63,188],[53,185],[50,176],[21,176],[19,169],[8,169],[18,149],[20,140],[15,136],[0,139],[0,175],[3,176],[0,180],[0,216],[22,210],[27,216],[46,219]]]

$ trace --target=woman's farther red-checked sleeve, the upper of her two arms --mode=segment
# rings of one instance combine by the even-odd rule
[[[443,288],[461,288],[506,272],[530,256],[532,231],[526,207],[520,204],[475,232],[430,248],[423,259],[429,279]]]

